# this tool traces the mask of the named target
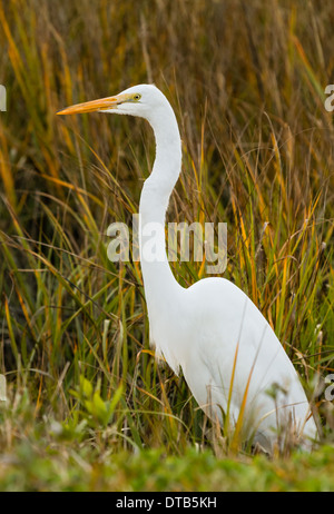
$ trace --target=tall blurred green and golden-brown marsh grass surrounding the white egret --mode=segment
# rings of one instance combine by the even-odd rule
[[[272,324],[331,444],[333,402],[314,387],[334,370],[333,2],[10,0],[0,22],[0,451],[12,458],[0,486],[70,488],[70,462],[90,476],[91,463],[145,447],[230,454],[229,434],[155,362],[138,263],[107,259],[107,227],[131,224],[153,165],[148,123],[55,116],[141,82],[180,126],[168,220],[227,221],[224,276]],[[205,263],[173,269],[186,286]]]

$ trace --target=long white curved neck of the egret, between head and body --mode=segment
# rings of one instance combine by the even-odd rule
[[[150,312],[150,306],[169,303],[174,293],[181,288],[168,263],[165,237],[166,210],[180,174],[181,142],[175,113],[167,100],[148,121],[155,134],[156,160],[140,196],[139,245],[145,294]]]

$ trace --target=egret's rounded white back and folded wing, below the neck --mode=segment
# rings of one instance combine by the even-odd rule
[[[246,436],[256,432],[257,437],[273,441],[279,428],[289,426],[316,437],[292,362],[238,287],[223,278],[206,278],[184,290],[181,304],[188,310],[183,316],[191,324],[180,328],[179,345],[187,350],[180,365],[196,401],[210,417],[222,422],[222,408],[226,413],[228,406],[230,424],[243,416]]]

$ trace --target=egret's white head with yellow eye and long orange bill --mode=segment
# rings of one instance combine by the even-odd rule
[[[112,97],[67,107],[58,111],[57,115],[63,116],[97,111],[139,116],[149,120],[153,112],[166,103],[168,105],[168,101],[158,88],[153,85],[141,83]]]

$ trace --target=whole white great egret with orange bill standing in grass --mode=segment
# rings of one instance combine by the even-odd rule
[[[165,216],[181,168],[181,142],[170,103],[153,85],[114,97],[68,107],[58,115],[110,112],[145,118],[156,139],[156,159],[145,181],[139,215],[139,245],[150,340],[175,373],[184,377],[200,407],[213,419],[243,426],[267,451],[277,433],[294,429],[301,441],[317,431],[297,373],[274,330],[253,302],[230,281],[210,277],[181,287],[166,255]],[[148,233],[159,227],[164,258],[143,253]],[[149,234],[150,235],[150,234]],[[274,392],[274,393],[273,393]],[[223,414],[224,413],[224,414]],[[226,418],[227,416],[227,418]],[[242,423],[240,423],[242,422]]]

